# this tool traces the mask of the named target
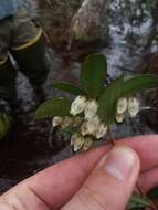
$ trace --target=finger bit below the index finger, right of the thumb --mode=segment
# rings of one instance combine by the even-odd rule
[[[146,193],[156,186],[158,186],[158,168],[154,168],[140,176],[139,187],[143,192]]]

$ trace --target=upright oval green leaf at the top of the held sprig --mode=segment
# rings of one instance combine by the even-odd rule
[[[96,98],[104,88],[104,78],[107,72],[106,57],[103,54],[91,54],[82,65],[81,82],[86,94]]]

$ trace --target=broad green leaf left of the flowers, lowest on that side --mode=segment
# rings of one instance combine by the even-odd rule
[[[71,101],[67,98],[54,98],[44,102],[35,112],[35,118],[52,118],[54,116],[70,116]]]

